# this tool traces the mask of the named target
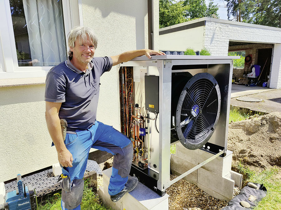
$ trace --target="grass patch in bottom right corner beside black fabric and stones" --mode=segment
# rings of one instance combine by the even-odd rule
[[[248,182],[259,183],[264,184],[267,189],[266,196],[258,203],[255,210],[281,209],[281,179],[279,168],[274,166],[271,169],[257,173],[240,162],[237,169],[239,173],[244,175],[243,185],[246,185]]]

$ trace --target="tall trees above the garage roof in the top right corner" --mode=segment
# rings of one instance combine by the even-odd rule
[[[281,27],[281,0],[226,0],[227,16],[239,22]]]

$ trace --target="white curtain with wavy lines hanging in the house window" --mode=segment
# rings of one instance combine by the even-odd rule
[[[23,0],[31,58],[40,66],[67,59],[61,0]]]

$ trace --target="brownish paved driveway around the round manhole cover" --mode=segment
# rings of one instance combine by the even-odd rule
[[[281,89],[269,89],[270,91],[251,94],[250,97],[260,98],[261,102],[239,101],[231,98],[230,104],[234,107],[241,107],[248,111],[255,112],[281,112]]]

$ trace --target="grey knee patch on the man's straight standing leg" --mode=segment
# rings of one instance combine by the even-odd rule
[[[62,189],[62,207],[74,209],[80,205],[83,196],[84,180],[73,180],[71,183],[71,191],[66,192]]]

